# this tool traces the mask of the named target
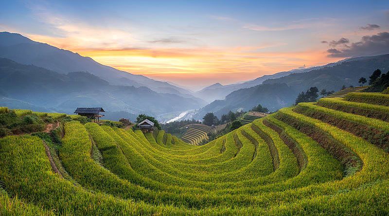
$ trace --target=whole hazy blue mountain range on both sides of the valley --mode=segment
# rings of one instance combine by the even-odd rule
[[[199,109],[195,118],[201,119],[207,112],[220,117],[229,110],[248,110],[258,104],[275,111],[292,105],[298,93],[311,86],[320,90],[356,86],[360,77],[368,78],[377,68],[389,70],[389,54],[278,72],[243,83],[215,83],[192,92],[19,34],[1,32],[0,106],[67,113],[76,107],[102,106],[112,119]]]

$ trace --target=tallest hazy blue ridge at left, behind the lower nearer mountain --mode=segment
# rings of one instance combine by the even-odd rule
[[[49,44],[35,42],[16,33],[0,32],[0,57],[9,58],[20,64],[46,68],[58,73],[89,72],[112,85],[145,86],[157,92],[161,89],[170,88],[177,90],[180,94],[191,94],[189,90],[176,87],[167,82],[119,71],[102,65],[90,57],[84,57]]]

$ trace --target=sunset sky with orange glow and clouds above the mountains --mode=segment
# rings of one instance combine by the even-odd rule
[[[389,53],[389,1],[1,0],[0,31],[199,90]]]

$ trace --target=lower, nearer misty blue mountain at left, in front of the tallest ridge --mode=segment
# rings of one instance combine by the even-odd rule
[[[37,111],[66,113],[72,113],[76,107],[104,107],[107,116],[116,116],[111,112],[117,111],[133,116],[201,108],[205,103],[147,87],[111,85],[89,72],[58,73],[0,58],[0,106],[23,105]]]

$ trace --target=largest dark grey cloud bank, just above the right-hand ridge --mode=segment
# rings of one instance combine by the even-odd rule
[[[362,55],[388,54],[389,32],[380,32],[377,35],[363,36],[359,42],[352,43],[345,49],[329,49],[328,57],[353,57]]]

